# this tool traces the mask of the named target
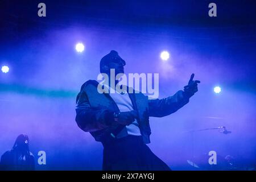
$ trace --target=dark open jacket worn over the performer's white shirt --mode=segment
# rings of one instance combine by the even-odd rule
[[[114,122],[113,113],[119,111],[108,93],[99,93],[98,82],[88,80],[76,98],[76,122],[80,129],[90,132],[96,141],[105,142],[124,127]],[[150,143],[149,117],[164,117],[172,114],[189,102],[182,90],[174,96],[148,100],[142,93],[129,94],[133,109],[138,111],[139,129],[144,143]]]

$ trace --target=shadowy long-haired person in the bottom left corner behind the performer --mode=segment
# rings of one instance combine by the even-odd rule
[[[20,134],[14,143],[13,149],[1,156],[1,170],[31,171],[35,170],[35,158],[29,149],[27,135]]]

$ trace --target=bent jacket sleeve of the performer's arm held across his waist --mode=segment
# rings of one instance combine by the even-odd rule
[[[76,101],[76,123],[80,129],[86,132],[98,131],[109,127],[113,121],[113,112],[104,108],[91,107],[85,91],[81,89]]]

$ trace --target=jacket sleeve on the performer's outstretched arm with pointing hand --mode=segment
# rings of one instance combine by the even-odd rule
[[[150,117],[164,117],[175,113],[178,109],[189,102],[189,97],[179,90],[174,94],[163,99],[148,100],[148,111]]]

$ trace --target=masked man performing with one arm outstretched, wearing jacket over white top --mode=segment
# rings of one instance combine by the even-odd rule
[[[125,60],[116,51],[102,57],[100,72],[109,77],[124,73]],[[113,77],[113,75],[112,75]],[[172,114],[189,102],[197,92],[194,74],[184,90],[163,99],[149,100],[140,93],[118,93],[115,85],[104,85],[108,93],[98,92],[98,82],[88,80],[76,99],[76,122],[104,146],[103,170],[170,170],[146,145],[150,143],[149,117]],[[123,85],[125,86],[125,85]]]

